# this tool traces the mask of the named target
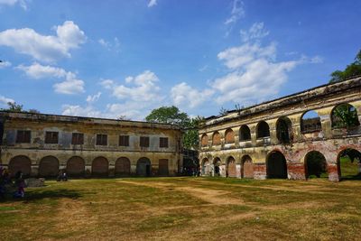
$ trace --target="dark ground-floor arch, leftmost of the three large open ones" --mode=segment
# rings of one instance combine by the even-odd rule
[[[267,178],[287,178],[287,162],[281,152],[273,151],[268,154],[266,160]]]

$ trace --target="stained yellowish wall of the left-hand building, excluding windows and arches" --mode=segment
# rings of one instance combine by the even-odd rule
[[[91,176],[92,169],[102,168],[92,167],[98,157],[107,161],[107,176],[115,175],[116,160],[122,157],[130,161],[130,175],[136,174],[137,162],[141,158],[150,160],[151,175],[159,174],[160,160],[168,160],[169,175],[175,175],[181,163],[181,133],[174,125],[4,112],[0,116],[6,118],[0,162],[7,166],[14,157],[26,156],[31,160],[32,176],[39,174],[39,166],[46,156],[55,157],[60,169],[67,168],[71,157],[80,157],[85,162],[86,176]],[[16,143],[17,130],[31,131],[31,142]],[[47,131],[59,133],[58,144],[44,143]],[[71,144],[72,133],[84,134],[84,144]],[[97,134],[107,135],[106,145],[96,144]],[[129,146],[119,146],[119,135],[129,135]],[[140,136],[150,137],[149,147],[140,146]],[[160,147],[160,137],[168,138],[168,147]]]

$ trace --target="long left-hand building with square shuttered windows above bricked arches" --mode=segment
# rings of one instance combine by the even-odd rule
[[[181,168],[176,125],[0,112],[0,131],[0,163],[13,174],[173,176]]]

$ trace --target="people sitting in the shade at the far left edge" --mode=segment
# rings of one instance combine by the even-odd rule
[[[22,171],[17,171],[15,173],[13,182],[11,173],[0,166],[0,199],[5,199],[5,195],[9,192],[13,192],[14,198],[23,198],[25,196],[24,188],[25,181],[23,179]]]

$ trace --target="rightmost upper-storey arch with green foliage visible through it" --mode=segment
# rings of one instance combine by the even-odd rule
[[[333,128],[347,128],[360,125],[356,107],[344,103],[334,107],[331,111],[331,126]]]

